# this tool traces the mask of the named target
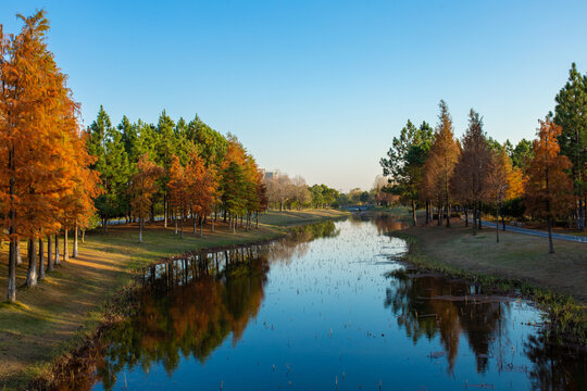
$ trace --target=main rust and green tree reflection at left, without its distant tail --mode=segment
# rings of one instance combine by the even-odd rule
[[[153,363],[161,363],[171,374],[182,356],[205,362],[230,333],[236,344],[259,312],[267,270],[266,257],[258,257],[217,275],[202,274],[164,293],[146,290],[138,314],[107,336],[108,348],[97,364],[104,388],[114,386],[125,366],[148,373]]]

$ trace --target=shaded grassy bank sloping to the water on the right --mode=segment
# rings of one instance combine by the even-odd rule
[[[527,235],[484,228],[476,236],[464,222],[454,219],[451,228],[436,225],[411,227],[397,236],[412,248],[407,261],[417,267],[469,280],[514,290],[532,298],[550,313],[560,333],[587,339],[587,245],[548,241]]]

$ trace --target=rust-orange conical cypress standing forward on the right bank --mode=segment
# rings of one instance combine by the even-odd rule
[[[547,116],[539,121],[538,139],[534,141],[534,159],[529,163],[526,181],[526,211],[548,224],[549,253],[554,252],[552,222],[566,216],[573,205],[573,181],[565,174],[572,164],[561,155],[559,136],[561,126]]]

